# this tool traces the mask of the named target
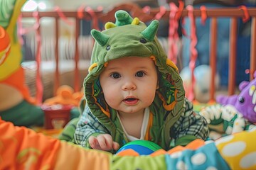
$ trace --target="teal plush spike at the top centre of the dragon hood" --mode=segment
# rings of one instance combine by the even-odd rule
[[[127,13],[127,11],[119,10],[114,14],[114,17],[116,18],[115,25],[116,26],[124,26],[131,24],[133,21],[132,16]]]

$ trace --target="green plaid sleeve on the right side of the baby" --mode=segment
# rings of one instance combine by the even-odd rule
[[[193,111],[193,104],[187,99],[183,108],[181,117],[171,128],[171,136],[174,137],[175,146],[185,146],[198,138],[206,140],[209,134],[206,119]]]

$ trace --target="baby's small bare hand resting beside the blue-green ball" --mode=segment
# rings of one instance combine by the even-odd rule
[[[101,134],[97,135],[97,137],[90,136],[88,141],[92,149],[100,149],[105,151],[119,149],[119,144],[117,142],[114,142],[111,135],[109,134]]]

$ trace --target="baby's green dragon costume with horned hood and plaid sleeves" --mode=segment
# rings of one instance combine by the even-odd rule
[[[132,18],[126,11],[115,13],[116,23],[106,23],[102,32],[92,30],[95,46],[92,52],[89,74],[85,78],[86,106],[76,125],[74,140],[82,147],[91,135],[108,133],[120,147],[129,142],[124,135],[117,111],[105,102],[100,86],[100,73],[110,60],[121,57],[151,57],[159,72],[159,89],[149,106],[149,138],[163,149],[187,145],[192,140],[208,136],[206,120],[193,112],[193,105],[185,98],[183,82],[176,65],[168,60],[156,38],[159,21],[149,26]],[[171,142],[174,145],[171,146]]]

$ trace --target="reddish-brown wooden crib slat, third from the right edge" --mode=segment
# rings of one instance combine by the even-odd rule
[[[215,74],[216,74],[216,50],[217,50],[217,18],[210,21],[210,101],[215,100]]]

